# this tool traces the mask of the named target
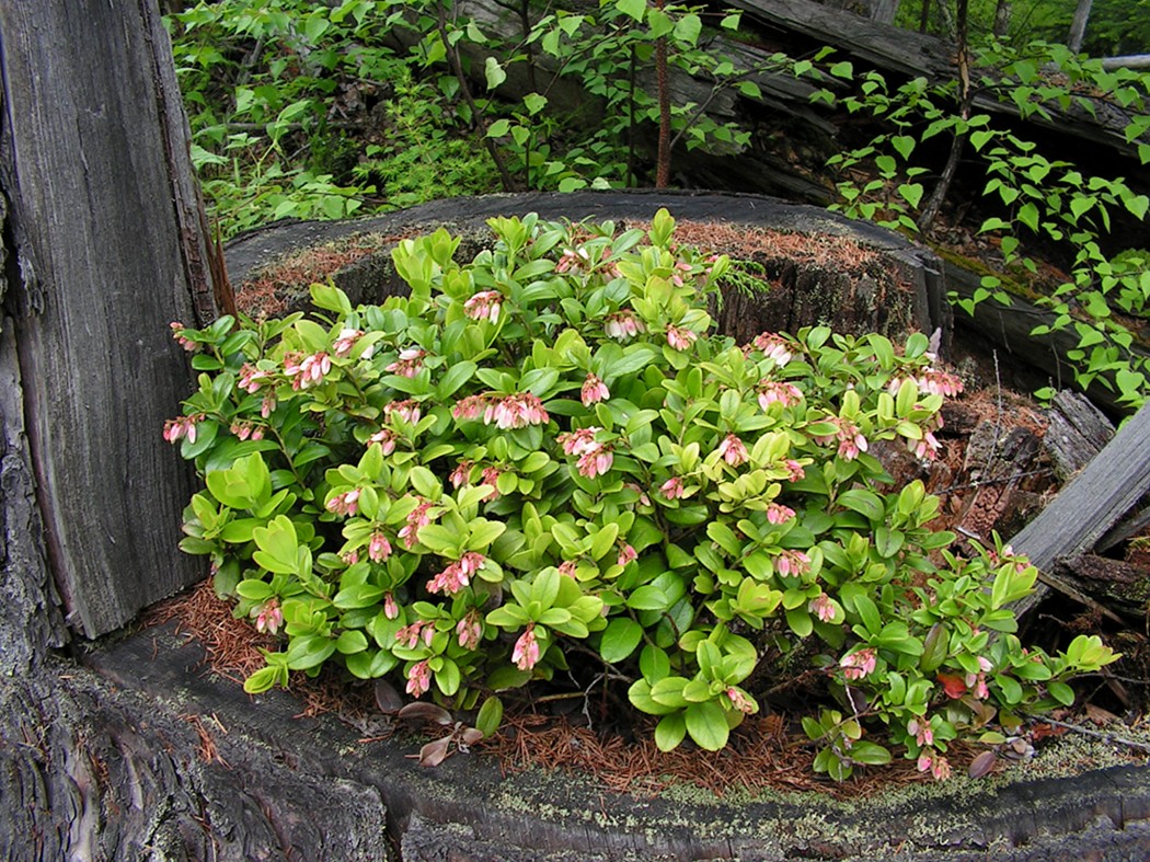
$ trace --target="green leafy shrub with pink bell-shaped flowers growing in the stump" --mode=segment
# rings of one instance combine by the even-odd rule
[[[935,456],[960,384],[926,338],[736,345],[707,313],[729,262],[666,211],[649,234],[490,224],[466,265],[443,230],[405,240],[411,295],[383,306],[314,285],[315,317],[174,324],[201,371],[164,431],[205,482],[183,548],[281,636],[250,692],[334,662],[482,700],[491,732],[523,686],[626,686],[661,748],[718,749],[806,674],[816,769],[894,746],[943,777],[950,740],[1000,740],[1116,657],[1023,648],[1035,569],[959,553],[872,454]]]

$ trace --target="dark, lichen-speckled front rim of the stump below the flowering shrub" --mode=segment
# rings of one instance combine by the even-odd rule
[[[141,780],[144,790],[160,785],[163,779],[152,776],[172,769],[167,759],[140,772],[132,757],[147,751],[150,736],[171,734],[183,761],[172,771],[204,805],[169,803],[169,833],[177,824],[186,831],[189,821],[209,834],[246,832],[248,842],[271,841],[267,857],[294,846],[300,859],[385,859],[389,845],[377,839],[370,846],[381,834],[381,800],[405,862],[1057,860],[1090,853],[1117,860],[1150,852],[1150,782],[1138,767],[1071,778],[1028,779],[1025,771],[994,782],[961,778],[853,801],[810,793],[750,801],[699,792],[621,795],[562,772],[504,777],[475,754],[422,768],[409,756],[417,739],[365,741],[330,716],[301,719],[301,705],[290,694],[248,699],[235,682],[201,670],[201,659],[198,645],[154,629],[85,660],[101,686],[148,710],[135,716],[136,725],[122,714],[109,716],[109,736],[129,763],[113,763],[105,792],[130,799],[124,792]],[[237,787],[244,791],[239,810],[220,808],[220,794]],[[121,805],[130,805],[126,799]],[[267,806],[262,818],[256,802]],[[198,830],[191,834],[207,840]],[[225,844],[218,857],[258,857],[239,855],[246,846]]]

